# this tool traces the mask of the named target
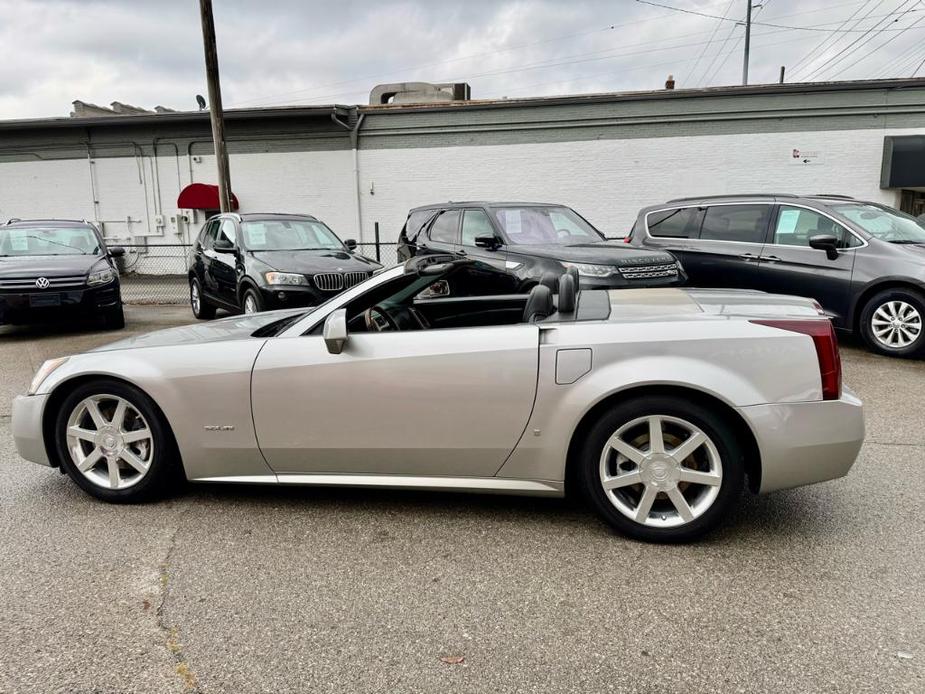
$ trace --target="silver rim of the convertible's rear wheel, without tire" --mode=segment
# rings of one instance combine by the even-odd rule
[[[671,528],[713,505],[723,466],[701,429],[678,417],[650,415],[624,424],[607,440],[600,481],[608,501],[630,520]]]

